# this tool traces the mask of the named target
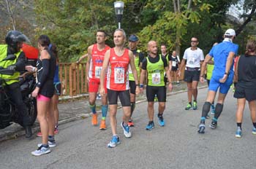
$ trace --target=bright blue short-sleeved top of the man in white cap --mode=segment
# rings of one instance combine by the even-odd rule
[[[208,53],[211,57],[214,58],[214,71],[212,76],[223,76],[225,74],[227,57],[230,52],[234,52],[237,55],[238,44],[233,44],[228,40],[224,40],[222,43],[219,43],[211,48],[211,51]],[[230,67],[230,74],[233,74],[233,64]]]

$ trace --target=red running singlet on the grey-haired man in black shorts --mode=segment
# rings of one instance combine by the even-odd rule
[[[129,50],[125,49],[121,56],[116,55],[114,48],[110,49],[107,74],[107,88],[110,90],[129,90]]]

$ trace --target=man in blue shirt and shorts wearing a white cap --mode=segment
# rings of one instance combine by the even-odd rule
[[[212,47],[203,62],[200,72],[200,82],[204,82],[203,75],[206,70],[206,64],[211,60],[211,58],[214,58],[214,71],[212,72],[208,87],[206,102],[203,105],[198,133],[205,133],[206,116],[210,111],[211,103],[213,103],[217,90],[219,89],[218,101],[215,106],[215,114],[210,125],[212,129],[217,127],[217,120],[222,113],[225,97],[233,82],[233,58],[238,52],[238,44],[233,44],[235,36],[236,32],[233,29],[227,29],[224,34],[225,39],[223,42]]]

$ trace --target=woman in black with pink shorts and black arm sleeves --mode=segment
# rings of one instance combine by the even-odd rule
[[[42,35],[38,39],[39,59],[37,60],[37,87],[32,96],[37,97],[37,119],[42,133],[42,144],[31,152],[35,156],[50,152],[49,146],[56,146],[54,140],[55,119],[50,98],[54,93],[53,76],[56,68],[56,58],[48,50],[50,39]]]

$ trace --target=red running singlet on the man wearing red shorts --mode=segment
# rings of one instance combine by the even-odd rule
[[[91,50],[91,63],[89,68],[89,78],[99,79],[100,71],[102,70],[102,64],[104,60],[104,55],[110,47],[105,45],[104,50],[98,50],[97,44],[94,44]]]

